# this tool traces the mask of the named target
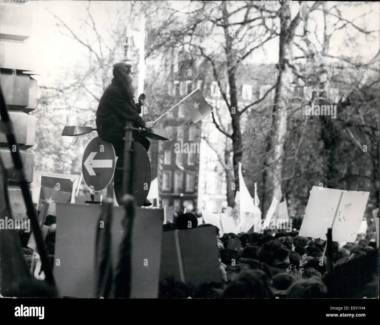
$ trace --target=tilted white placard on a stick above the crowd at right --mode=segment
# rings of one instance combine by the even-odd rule
[[[333,241],[355,242],[368,196],[369,192],[313,186],[299,236],[326,240],[327,229],[332,227]]]

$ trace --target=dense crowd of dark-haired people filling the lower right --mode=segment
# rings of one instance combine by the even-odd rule
[[[55,246],[55,217],[46,246],[52,266]],[[191,227],[189,227],[191,225]],[[177,216],[163,224],[163,231],[208,227],[199,224],[192,213]],[[379,257],[376,242],[360,239],[341,246],[332,242],[332,272],[327,272],[325,241],[298,236],[298,230],[264,230],[263,233],[224,233],[216,229],[222,281],[200,286],[166,278],[159,283],[159,298],[375,298],[379,288]],[[228,239],[239,239],[239,249],[227,248]],[[24,256],[32,263],[26,233],[21,241]],[[197,254],[194,252],[194,254]]]

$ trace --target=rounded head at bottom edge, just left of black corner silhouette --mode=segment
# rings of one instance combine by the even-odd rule
[[[287,298],[327,298],[327,287],[317,277],[302,279],[289,288]]]

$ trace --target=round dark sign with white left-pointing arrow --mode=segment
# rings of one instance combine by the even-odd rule
[[[92,185],[94,191],[102,191],[112,180],[115,172],[115,150],[108,142],[93,138],[84,150],[82,173],[87,186]]]

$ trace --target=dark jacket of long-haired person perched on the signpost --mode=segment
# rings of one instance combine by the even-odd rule
[[[132,125],[145,127],[141,116],[141,105],[135,104],[133,98],[120,87],[116,78],[112,79],[103,96],[100,98],[96,111],[96,126],[100,139],[113,142],[124,136],[125,120],[132,121]]]

